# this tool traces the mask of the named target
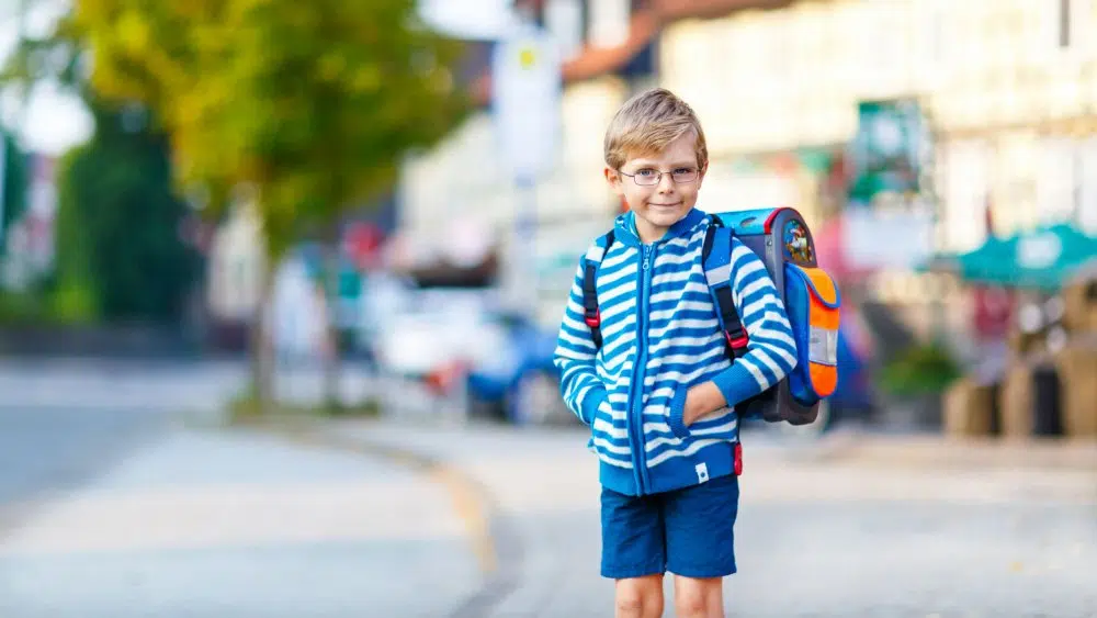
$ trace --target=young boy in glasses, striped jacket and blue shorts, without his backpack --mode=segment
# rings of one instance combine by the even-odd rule
[[[736,571],[734,406],[795,366],[795,344],[766,267],[734,240],[749,344],[734,364],[725,355],[701,263],[711,217],[693,207],[709,157],[692,109],[667,90],[638,94],[604,149],[606,180],[629,212],[609,248],[596,241],[580,260],[555,352],[561,392],[600,460],[601,573],[615,580],[619,618],[661,616],[667,571],[680,618],[722,618],[723,577]],[[581,282],[599,260],[596,346]]]

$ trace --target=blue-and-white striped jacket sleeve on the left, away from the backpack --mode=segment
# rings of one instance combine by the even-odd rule
[[[595,418],[595,412],[607,404],[606,385],[598,377],[595,358],[598,353],[590,327],[583,315],[583,276],[586,257],[579,260],[579,268],[572,283],[564,319],[559,326],[553,363],[559,370],[559,392],[567,407],[587,425]]]

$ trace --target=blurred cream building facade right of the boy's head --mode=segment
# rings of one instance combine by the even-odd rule
[[[907,105],[927,128],[914,190],[936,210],[932,248],[975,248],[988,221],[998,234],[1055,222],[1097,233],[1090,2],[766,4],[661,34],[660,82],[709,134],[705,202],[795,205],[813,224],[855,207],[841,187],[856,182],[851,151],[892,138],[871,134],[866,110]],[[875,236],[881,254],[901,237]],[[892,303],[959,300],[934,276],[900,269],[877,282]]]

